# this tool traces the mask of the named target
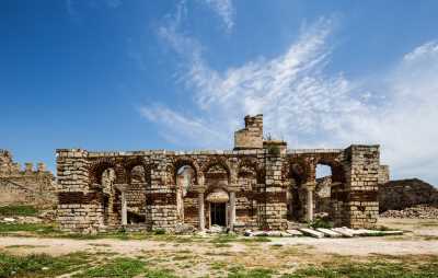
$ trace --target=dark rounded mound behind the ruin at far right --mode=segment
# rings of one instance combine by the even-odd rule
[[[380,212],[420,204],[438,207],[438,190],[418,178],[391,181],[379,187]]]

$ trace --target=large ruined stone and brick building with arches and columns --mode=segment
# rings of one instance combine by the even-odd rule
[[[245,117],[224,151],[94,152],[58,149],[58,221],[72,231],[142,223],[173,230],[287,228],[312,221],[315,171],[331,169],[324,205],[336,225],[376,224],[379,146],[347,149],[288,149],[263,139],[263,116]],[[318,189],[318,188],[316,188]]]

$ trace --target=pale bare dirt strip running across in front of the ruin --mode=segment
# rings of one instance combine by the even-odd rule
[[[0,238],[0,251],[12,254],[46,253],[54,256],[87,252],[96,256],[147,257],[160,267],[193,277],[214,265],[242,265],[291,269],[328,262],[334,256],[367,259],[377,255],[438,255],[438,219],[381,219],[379,224],[406,231],[404,235],[354,239],[270,238],[270,242],[232,241],[218,244],[205,239],[154,241],[117,239],[73,240],[49,238]]]

